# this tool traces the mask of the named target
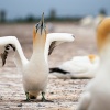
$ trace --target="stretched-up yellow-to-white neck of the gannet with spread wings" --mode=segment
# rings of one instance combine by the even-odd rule
[[[33,29],[33,54],[31,57],[31,59],[34,61],[37,61],[40,57],[44,59],[44,50],[47,35],[45,29],[43,29],[41,33],[41,29],[37,29],[36,26]]]

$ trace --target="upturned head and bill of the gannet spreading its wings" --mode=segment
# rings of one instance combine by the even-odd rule
[[[33,29],[33,44],[37,44],[42,41],[45,44],[46,41],[46,26],[44,23],[44,13],[41,21]]]

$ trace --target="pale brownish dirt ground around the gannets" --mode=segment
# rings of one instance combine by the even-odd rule
[[[32,55],[33,24],[0,24],[0,36],[15,35],[28,58]],[[57,46],[48,57],[50,67],[58,66],[76,55],[97,54],[95,28],[75,23],[47,23],[48,32],[74,34],[73,43]],[[46,98],[53,102],[24,102],[22,74],[13,63],[11,53],[7,64],[0,68],[0,110],[76,110],[78,100],[89,79],[58,79],[50,75]]]

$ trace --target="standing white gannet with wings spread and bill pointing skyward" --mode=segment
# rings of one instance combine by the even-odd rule
[[[68,33],[47,34],[44,24],[44,14],[33,29],[33,54],[30,61],[24,56],[22,47],[15,36],[0,37],[2,65],[6,64],[8,50],[11,47],[15,51],[14,63],[22,73],[26,101],[37,98],[40,91],[42,92],[42,101],[46,101],[44,95],[48,79],[48,54],[52,53],[56,45],[62,42],[73,42],[74,38],[74,35]]]

